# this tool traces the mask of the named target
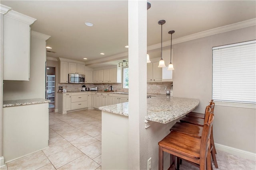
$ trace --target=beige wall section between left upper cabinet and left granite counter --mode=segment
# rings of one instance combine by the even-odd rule
[[[4,80],[3,100],[45,98],[46,41],[31,36],[30,44],[30,80]]]

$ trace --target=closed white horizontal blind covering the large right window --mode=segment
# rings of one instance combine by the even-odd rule
[[[256,104],[256,41],[212,48],[212,99]]]

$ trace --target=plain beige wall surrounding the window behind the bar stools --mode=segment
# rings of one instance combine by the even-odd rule
[[[212,99],[212,47],[256,39],[256,27],[246,27],[173,45],[173,96],[200,99],[204,113]],[[215,106],[215,143],[256,153],[256,111]]]

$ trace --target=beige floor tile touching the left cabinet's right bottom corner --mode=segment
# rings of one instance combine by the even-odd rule
[[[72,145],[68,141],[62,138],[61,140],[49,143],[49,147],[43,149],[43,152],[46,156],[50,156],[71,146]]]

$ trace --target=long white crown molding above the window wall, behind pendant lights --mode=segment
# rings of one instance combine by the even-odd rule
[[[230,25],[225,25],[225,26],[222,26],[222,27],[217,27],[217,28],[214,28],[214,29],[209,29],[209,30],[202,31],[202,32],[199,32],[199,33],[194,33],[194,34],[191,34],[191,35],[187,35],[187,36],[184,36],[184,37],[176,38],[176,39],[172,40],[172,45],[182,43],[182,42],[185,42],[185,41],[190,41],[190,40],[193,40],[193,39],[207,37],[207,36],[218,34],[218,33],[224,33],[224,32],[227,32],[227,31],[241,29],[241,28],[244,28],[244,27],[250,27],[250,26],[253,26],[253,25],[256,25],[256,18],[241,21],[241,22],[238,22],[238,23],[233,23],[233,24],[230,24]],[[170,46],[170,44],[171,44],[171,41],[165,41],[165,42],[162,43],[163,47]],[[152,50],[158,49],[158,48],[161,48],[161,43],[148,46],[148,51],[152,51]]]

